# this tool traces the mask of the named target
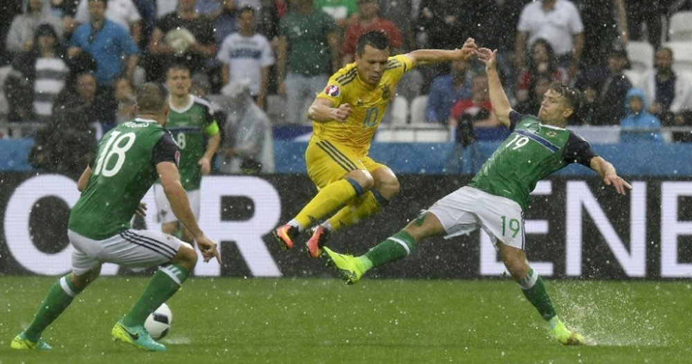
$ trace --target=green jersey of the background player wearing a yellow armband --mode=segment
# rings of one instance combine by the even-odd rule
[[[180,182],[185,191],[199,189],[202,173],[200,158],[207,150],[207,137],[219,133],[219,126],[211,113],[209,102],[190,95],[190,103],[184,108],[168,111],[166,128],[180,148]]]

